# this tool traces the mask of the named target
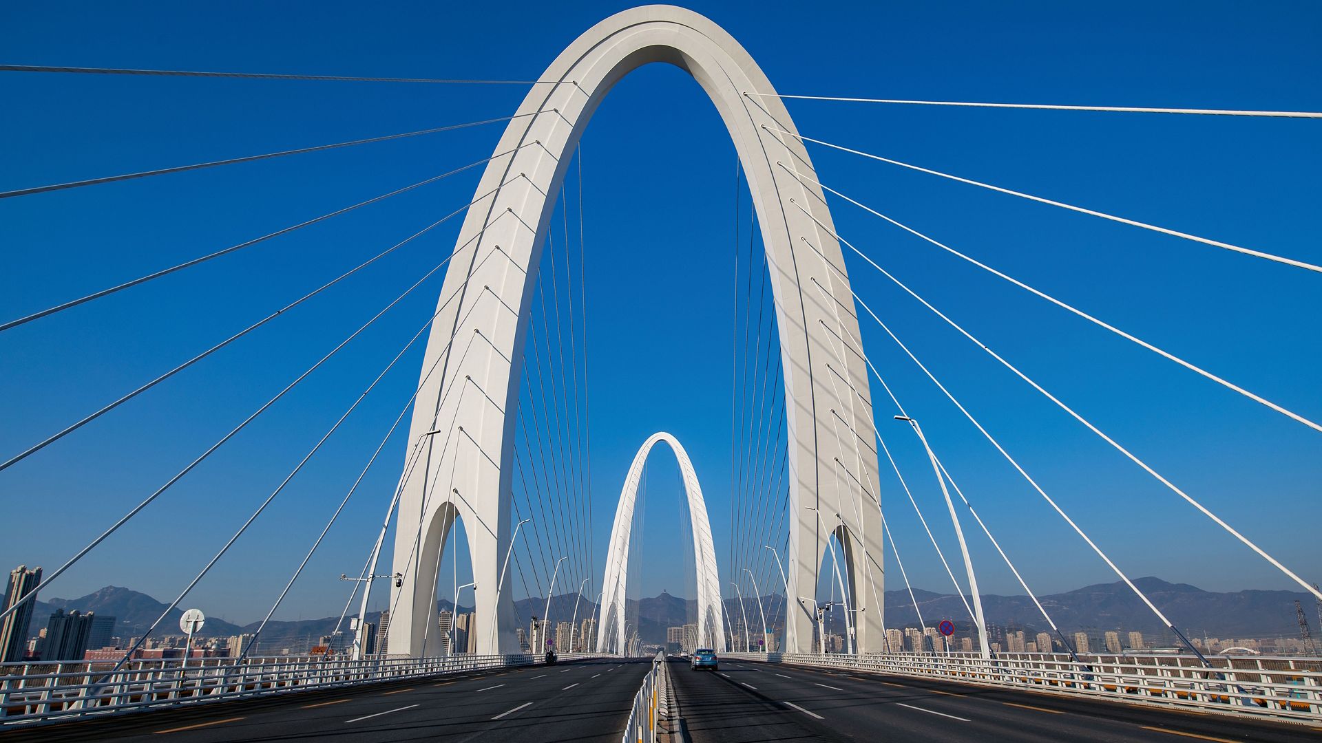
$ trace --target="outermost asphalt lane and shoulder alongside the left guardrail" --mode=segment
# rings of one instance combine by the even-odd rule
[[[428,706],[424,705],[428,702],[426,699],[428,691],[435,691],[438,698],[444,690],[452,690],[455,694],[473,693],[475,697],[479,697],[477,691],[498,685],[505,678],[533,681],[534,677],[542,677],[549,680],[551,676],[561,676],[561,672],[566,672],[564,676],[574,676],[587,668],[591,668],[591,662],[580,661],[562,666],[534,665],[520,669],[444,674],[398,682],[282,694],[260,699],[198,705],[190,709],[152,710],[100,721],[41,726],[5,732],[4,736],[7,740],[159,742],[161,739],[155,738],[155,735],[168,732],[172,738],[200,743],[267,740],[271,739],[272,731],[279,732],[275,738],[301,736],[303,734],[334,736],[353,732],[342,728],[342,726],[349,724],[345,722],[349,719],[377,713],[406,713],[408,710],[403,707],[410,705],[418,705],[410,709]],[[553,684],[543,682],[538,690],[546,693],[553,689]],[[489,691],[497,691],[497,689],[489,689]],[[423,697],[423,699],[414,697]],[[500,699],[496,698],[479,699],[477,703],[485,710],[489,706],[488,701],[500,703]],[[463,707],[468,709],[471,705]]]

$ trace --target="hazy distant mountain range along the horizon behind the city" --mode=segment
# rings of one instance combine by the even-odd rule
[[[1159,578],[1140,578],[1134,583],[1165,612],[1171,621],[1185,629],[1191,636],[1207,633],[1215,637],[1294,637],[1298,633],[1298,624],[1294,613],[1294,602],[1300,600],[1307,607],[1307,616],[1315,621],[1314,600],[1309,594],[1292,591],[1233,591],[1214,592],[1203,591],[1186,583],[1167,583]],[[961,629],[970,627],[969,612],[964,608],[964,602],[954,594],[935,594],[915,588],[917,608],[923,613],[923,620],[936,624],[943,619],[951,619]],[[1038,596],[1051,617],[1062,629],[1072,632],[1076,629],[1129,629],[1145,633],[1161,633],[1165,628],[1155,616],[1145,607],[1133,592],[1120,582],[1099,583],[1085,586],[1064,594],[1051,594]],[[576,596],[562,594],[554,596],[550,603],[550,616],[553,621],[568,621],[575,611]],[[763,608],[767,611],[768,624],[780,625],[784,623],[784,596],[764,595]],[[661,592],[658,596],[644,599],[629,599],[627,616],[637,616],[639,635],[645,643],[664,643],[666,628],[678,627],[694,621],[697,616],[697,602],[682,599]],[[87,594],[78,599],[49,599],[37,602],[33,613],[30,631],[34,635],[45,627],[46,617],[56,609],[65,611],[94,611],[99,615],[114,615],[116,617],[116,635],[128,637],[141,635],[152,621],[165,611],[165,606],[147,594],[140,594],[130,588],[107,586],[99,591]],[[1029,596],[1001,596],[994,594],[982,595],[982,606],[989,624],[1003,627],[1022,627],[1026,629],[1046,629],[1042,613]],[[438,602],[438,608],[449,608],[448,600]],[[459,607],[460,612],[472,611],[471,607]],[[514,602],[514,613],[520,624],[526,624],[529,617],[541,617],[546,611],[545,598],[527,598]],[[726,602],[728,616],[739,616],[740,607],[736,599]],[[747,612],[748,624],[756,627],[760,623],[759,606],[755,596],[744,598],[743,611]],[[596,604],[586,598],[578,599],[578,619],[583,620],[596,612]],[[177,635],[178,617],[182,612],[172,609],[167,619],[157,628],[157,635]],[[839,621],[836,612],[837,621]],[[338,616],[323,619],[305,619],[296,621],[271,621],[263,631],[263,636],[275,637],[311,637],[329,635],[338,621]],[[379,613],[368,615],[368,621],[379,621]],[[243,632],[253,632],[259,623],[235,625],[222,619],[208,619],[202,628],[202,636],[230,636]],[[910,600],[908,591],[886,591],[886,625],[887,627],[917,627],[917,613],[914,611],[914,602]],[[1322,628],[1315,628],[1322,629]]]

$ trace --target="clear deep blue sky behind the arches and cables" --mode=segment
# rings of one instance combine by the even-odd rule
[[[624,8],[574,4],[11,4],[4,62],[349,75],[535,78]],[[699,4],[781,93],[937,100],[1322,110],[1314,3]],[[0,189],[508,115],[522,87],[0,74]],[[1322,262],[1322,128],[1229,119],[792,102],[800,131],[1268,253]],[[0,202],[0,317],[134,278],[486,156],[498,127]],[[730,534],[734,152],[691,79],[648,67],[583,140],[595,541],[633,451],[680,436]],[[1313,419],[1315,274],[810,149],[822,180]],[[465,204],[477,172],[0,337],[0,455],[94,410]],[[1317,579],[1319,434],[977,272],[857,209],[839,231],[1288,565]],[[268,398],[453,245],[457,221],[46,452],[0,473],[0,565],[54,567]],[[858,260],[855,290],[1133,575],[1210,590],[1281,576]],[[104,584],[163,600],[431,313],[419,291],[46,596]],[[1043,592],[1109,582],[1087,547],[874,325],[865,342]],[[890,345],[888,345],[890,344]],[[259,619],[416,381],[418,354],[188,603]],[[639,394],[639,391],[642,394]],[[874,398],[880,399],[876,394]],[[878,407],[882,410],[882,407]],[[890,412],[886,412],[887,418]],[[939,514],[912,435],[883,434]],[[282,616],[338,612],[402,460],[387,450]],[[668,455],[653,472],[673,467]],[[691,595],[680,504],[658,476],[639,591]],[[948,591],[894,480],[914,582]],[[933,518],[933,522],[941,520]],[[937,537],[953,547],[948,528]],[[982,538],[985,591],[1019,592]],[[686,547],[685,547],[686,549]],[[890,557],[887,555],[887,561]],[[600,558],[598,561],[600,563]],[[690,567],[691,570],[691,567]],[[723,580],[728,576],[723,575]],[[448,582],[442,580],[442,586]],[[888,587],[900,586],[891,571]],[[521,594],[521,591],[520,591]]]

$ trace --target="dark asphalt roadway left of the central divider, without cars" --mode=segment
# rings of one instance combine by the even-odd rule
[[[0,742],[619,743],[650,658],[438,676],[0,732]]]

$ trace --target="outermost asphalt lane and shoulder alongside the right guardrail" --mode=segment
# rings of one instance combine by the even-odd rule
[[[875,694],[878,685],[890,691],[927,697],[921,705],[947,714],[952,706],[968,711],[977,709],[984,718],[995,718],[1001,724],[1015,727],[1017,734],[1025,734],[1023,726],[1050,730],[1079,728],[1093,739],[1104,735],[1120,735],[1126,740],[1170,740],[1171,735],[1202,736],[1211,740],[1264,740],[1268,743],[1292,740],[1315,740],[1317,728],[1294,723],[1253,721],[1215,713],[1192,713],[1107,702],[1087,698],[1067,698],[1056,694],[1017,691],[977,685],[966,685],[911,677],[870,674],[858,672],[825,672],[802,666],[779,664],[744,664],[747,668],[779,676],[801,677],[816,689],[820,685],[849,689],[861,694]],[[765,666],[759,669],[759,666]],[[862,685],[862,686],[851,686]],[[898,699],[903,702],[903,699]],[[911,706],[919,702],[904,702]],[[972,707],[969,705],[973,705]],[[961,715],[969,717],[969,715]],[[1083,727],[1079,727],[1079,726]],[[1083,732],[1081,732],[1083,734]]]

